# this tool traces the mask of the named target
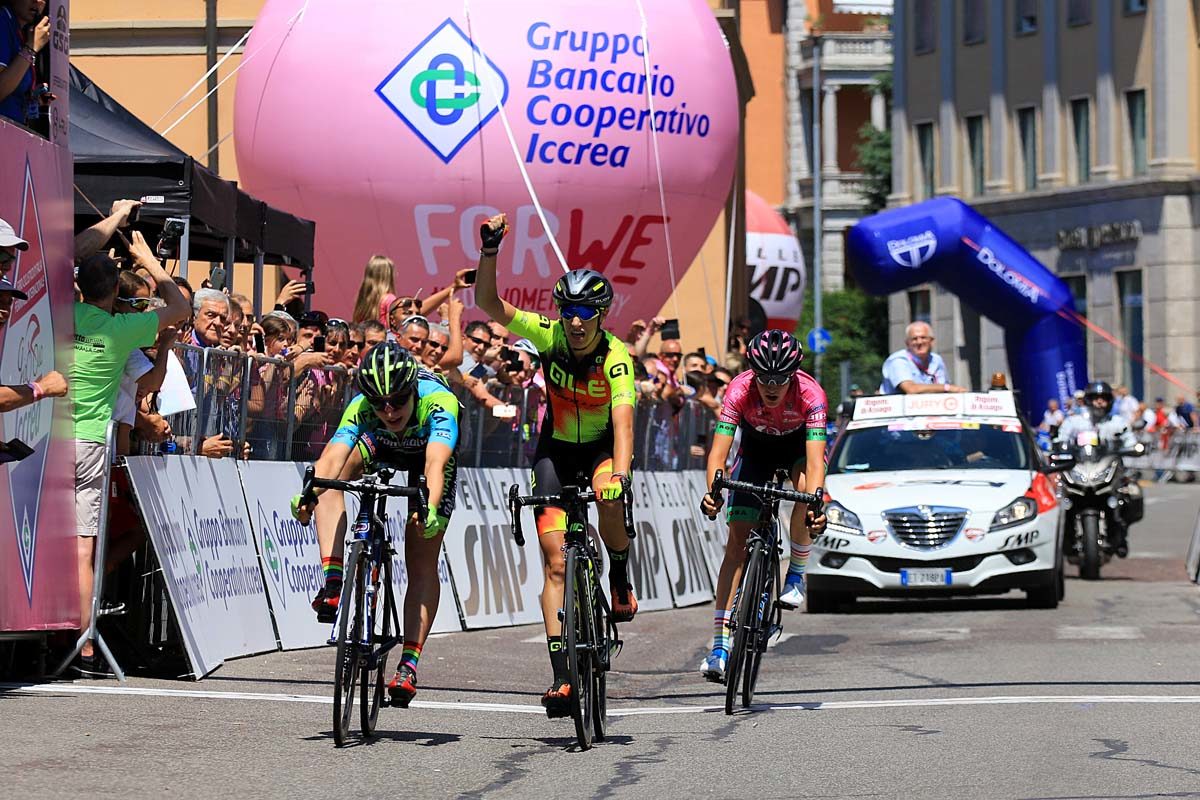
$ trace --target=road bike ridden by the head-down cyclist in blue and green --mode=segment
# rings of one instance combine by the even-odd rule
[[[391,486],[391,469],[382,468],[356,481],[316,477],[313,468],[304,474],[304,499],[311,501],[313,489],[338,489],[359,495],[359,515],[352,528],[343,567],[342,595],[337,619],[329,643],[337,645],[334,662],[334,742],[342,747],[350,734],[354,716],[354,688],[359,685],[359,722],[362,736],[374,734],[379,708],[388,705],[384,680],[388,654],[404,639],[400,633],[400,613],[392,593],[391,570],[396,548],[388,533],[388,498],[408,498],[409,510],[425,519],[428,491],[425,476],[416,486]],[[383,614],[377,606],[383,590]],[[378,627],[378,630],[376,630]]]

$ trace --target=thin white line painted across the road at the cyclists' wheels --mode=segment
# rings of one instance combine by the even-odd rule
[[[918,687],[913,687],[918,688]],[[217,700],[260,700],[270,703],[310,703],[330,705],[331,697],[319,694],[277,694],[272,692],[221,692],[187,688],[146,688],[138,686],[90,686],[82,684],[0,684],[0,690],[16,694],[113,694],[133,697],[174,697]],[[755,705],[756,711],[836,711],[852,709],[937,708],[956,705],[1200,705],[1200,694],[1032,694],[994,697],[919,697],[908,699],[802,700]],[[500,714],[545,714],[540,705],[515,703],[442,703],[413,700],[410,708],[440,711],[491,711]],[[710,714],[721,705],[676,705],[610,709],[608,716],[655,716],[672,714]]]

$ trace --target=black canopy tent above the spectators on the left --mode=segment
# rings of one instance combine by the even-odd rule
[[[264,263],[312,270],[316,223],[272,207],[198,164],[73,66],[70,140],[78,229],[107,213],[114,200],[140,199],[139,227],[161,228],[168,217],[187,222],[180,243],[185,276],[188,258],[227,266],[253,261],[256,302]]]

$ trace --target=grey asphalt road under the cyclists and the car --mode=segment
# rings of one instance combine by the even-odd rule
[[[335,750],[331,650],[200,682],[0,687],[4,796],[1200,798],[1200,486],[1147,489],[1129,559],[1014,593],[793,614],[756,708],[696,674],[710,607],[623,627],[610,740],[548,721],[540,627],[436,637],[407,710]],[[1072,569],[1070,572],[1074,572]]]

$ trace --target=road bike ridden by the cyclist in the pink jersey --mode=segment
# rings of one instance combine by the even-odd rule
[[[730,660],[725,667],[725,712],[733,714],[738,684],[742,686],[742,708],[754,702],[758,667],[770,638],[782,630],[782,612],[779,604],[779,559],[784,551],[780,542],[779,504],[781,500],[803,503],[815,516],[821,515],[824,492],[815,494],[797,492],[788,486],[787,471],[775,470],[769,483],[746,483],[726,480],[721,470],[713,477],[709,494],[718,505],[721,492],[744,492],[762,501],[758,522],[746,537],[746,559],[742,567],[742,584],[733,595],[730,612]]]

